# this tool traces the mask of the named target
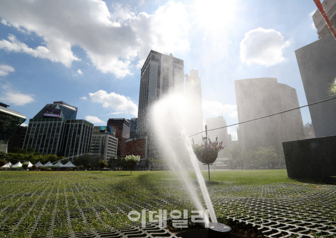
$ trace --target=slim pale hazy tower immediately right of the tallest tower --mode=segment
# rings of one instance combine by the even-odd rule
[[[188,135],[196,134],[203,131],[203,112],[202,112],[202,89],[201,78],[198,70],[190,70],[186,75],[186,98],[189,111],[189,123],[186,125]],[[200,135],[193,136],[195,142],[202,142]]]

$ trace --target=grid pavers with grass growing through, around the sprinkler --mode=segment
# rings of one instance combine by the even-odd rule
[[[1,173],[0,236],[177,237],[155,222],[141,228],[127,214],[192,207],[173,178],[150,184],[141,175],[113,172]],[[336,237],[335,185],[222,181],[208,189],[219,220],[246,224],[265,237]]]

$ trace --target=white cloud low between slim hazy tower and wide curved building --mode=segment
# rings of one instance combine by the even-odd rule
[[[224,115],[224,117],[231,117],[238,120],[237,105],[224,104],[220,101],[203,100],[202,108],[205,118]]]

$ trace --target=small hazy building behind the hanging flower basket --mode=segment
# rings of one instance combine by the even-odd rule
[[[218,116],[218,117],[213,117],[213,118],[207,118],[206,119],[206,125],[208,127],[208,135],[212,141],[218,137],[218,141],[221,142],[223,141],[223,146],[224,149],[219,151],[218,156],[223,157],[223,152],[225,150],[228,150],[228,128],[221,128],[221,129],[216,129],[219,127],[224,127],[226,126],[226,120],[223,116]],[[215,129],[215,130],[211,130]]]

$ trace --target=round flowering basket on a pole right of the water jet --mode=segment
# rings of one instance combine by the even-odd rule
[[[193,139],[193,148],[198,160],[202,163],[208,164],[208,172],[209,172],[209,180],[210,180],[210,167],[209,164],[215,162],[218,152],[224,148],[223,141],[219,142],[218,137],[216,137],[215,141],[211,141],[210,138],[209,142],[206,141],[205,143],[195,144]]]

